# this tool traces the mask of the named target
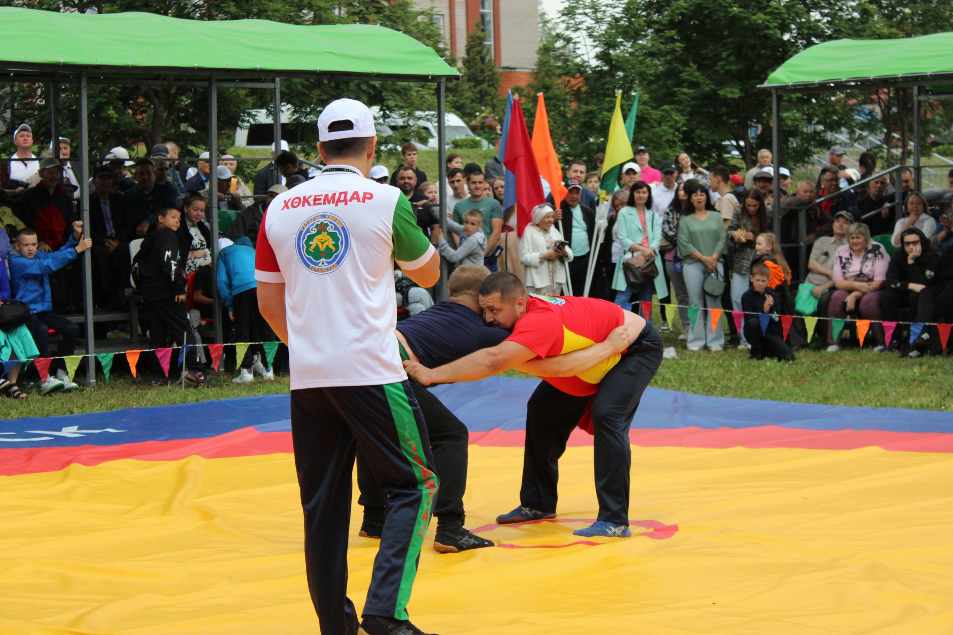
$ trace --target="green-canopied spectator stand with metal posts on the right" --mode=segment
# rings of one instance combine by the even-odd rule
[[[831,64],[837,60],[837,64]],[[899,38],[893,40],[832,40],[802,50],[791,57],[777,70],[768,75],[760,89],[771,90],[772,105],[772,151],[774,153],[774,173],[779,174],[781,161],[781,95],[816,92],[840,92],[854,89],[891,89],[913,88],[913,175],[916,189],[921,189],[923,169],[945,168],[949,166],[921,165],[921,108],[922,102],[953,99],[953,92],[935,92],[947,89],[953,84],[953,32],[933,33],[921,37]],[[888,154],[889,157],[889,149]],[[883,169],[891,175],[894,189],[902,192],[901,171],[897,165]],[[863,179],[841,189],[856,189],[871,178]],[[836,198],[840,192],[819,199],[823,202]],[[894,220],[902,217],[902,196],[896,196]],[[774,201],[781,204],[781,184],[774,181]],[[876,209],[864,216],[881,213]],[[792,210],[788,213],[794,213]],[[782,248],[800,248],[801,272],[806,268],[807,246],[805,245],[806,208],[797,210],[799,215],[799,244],[782,245]],[[774,215],[775,235],[781,236],[781,214]]]

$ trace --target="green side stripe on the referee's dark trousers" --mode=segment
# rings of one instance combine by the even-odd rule
[[[436,474],[427,466],[427,459],[421,447],[420,433],[416,427],[414,410],[407,400],[403,384],[387,384],[384,386],[387,403],[391,407],[391,415],[397,427],[397,439],[404,456],[413,465],[416,474],[417,488],[423,492],[420,498],[420,508],[417,512],[416,528],[407,547],[407,559],[404,561],[404,572],[400,576],[400,588],[397,590],[397,604],[394,610],[395,620],[406,620],[407,603],[411,599],[411,589],[416,577],[416,563],[423,547],[423,539],[430,526],[431,509],[436,494]]]

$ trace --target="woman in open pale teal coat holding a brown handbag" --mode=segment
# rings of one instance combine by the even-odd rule
[[[612,288],[618,291],[616,304],[625,305],[638,301],[640,305],[642,302],[651,302],[653,293],[658,293],[659,298],[668,295],[659,254],[661,219],[652,211],[652,189],[644,181],[638,181],[632,186],[628,205],[619,210],[613,231],[622,246],[622,257],[618,259],[616,275],[612,280]],[[632,259],[631,262],[639,268],[647,262],[655,262],[659,274],[654,280],[641,285],[627,285],[622,267],[626,258]],[[641,306],[633,307],[632,310],[639,312]]]

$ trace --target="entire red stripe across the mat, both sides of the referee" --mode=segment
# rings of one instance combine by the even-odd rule
[[[521,447],[524,430],[493,429],[471,432],[476,446]],[[890,432],[882,430],[804,430],[795,427],[679,427],[629,430],[634,446],[680,447],[797,447],[802,449],[856,449],[880,446],[905,452],[953,453],[953,434]],[[569,446],[592,446],[593,437],[576,430]],[[72,464],[97,466],[118,459],[177,461],[188,456],[219,459],[292,451],[291,432],[259,432],[243,427],[204,439],[147,441],[118,446],[20,447],[0,449],[0,476],[51,472]]]

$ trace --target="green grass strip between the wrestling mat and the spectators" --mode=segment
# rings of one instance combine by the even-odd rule
[[[653,321],[659,324],[659,309]],[[678,341],[678,318],[673,331],[662,333],[665,347],[676,347],[679,358],[664,360],[653,387],[683,390],[717,397],[763,399],[838,406],[905,407],[923,410],[953,411],[949,398],[953,377],[953,357],[899,359],[894,354],[879,354],[868,348],[841,348],[838,353],[802,350],[793,364],[774,361],[753,362],[746,350],[725,348],[720,353],[707,350],[691,352]],[[951,342],[953,344],[953,342]],[[507,375],[523,376],[510,371]],[[274,382],[233,385],[233,375],[211,377],[214,387],[187,386],[156,388],[145,379],[115,374],[111,383],[74,392],[41,397],[36,387],[25,387],[30,398],[21,402],[5,399],[0,419],[47,417],[60,414],[97,412],[123,407],[188,404],[210,399],[231,399],[287,392],[287,377]],[[765,418],[770,417],[765,413]]]

